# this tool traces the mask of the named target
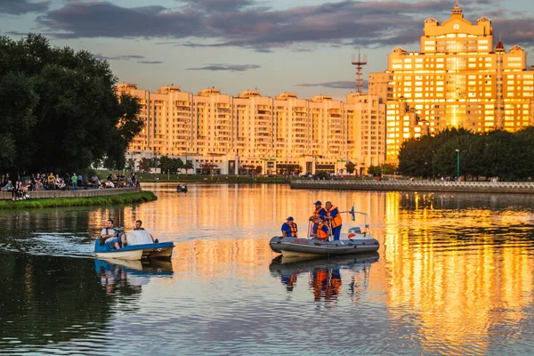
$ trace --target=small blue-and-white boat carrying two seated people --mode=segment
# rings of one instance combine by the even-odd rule
[[[158,241],[158,240],[156,240]],[[147,258],[169,259],[173,255],[172,242],[154,242],[146,230],[133,230],[126,235],[126,246],[116,249],[101,246],[99,239],[94,242],[94,255],[98,258],[117,260],[142,260]]]

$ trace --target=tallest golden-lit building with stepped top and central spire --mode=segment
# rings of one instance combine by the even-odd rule
[[[385,89],[384,80],[389,80]],[[421,134],[448,127],[513,132],[534,124],[534,69],[526,70],[525,51],[514,45],[506,52],[501,41],[494,47],[491,20],[481,17],[473,24],[458,4],[443,23],[425,20],[419,52],[395,48],[388,69],[369,81],[371,93],[389,99],[391,163],[397,162],[402,142]]]

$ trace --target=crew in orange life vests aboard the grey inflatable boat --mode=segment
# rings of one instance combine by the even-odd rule
[[[314,206],[315,210],[308,219],[312,223],[310,237],[326,241],[330,236],[333,236],[334,240],[338,240],[341,233],[342,219],[337,206],[333,206],[331,202],[327,201],[325,207],[322,207],[320,200],[316,201]],[[286,223],[282,224],[281,230],[284,238],[298,237],[298,228],[293,216],[287,218]]]

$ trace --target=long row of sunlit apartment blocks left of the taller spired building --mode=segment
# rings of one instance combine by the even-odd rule
[[[377,96],[352,93],[345,103],[328,95],[271,98],[251,90],[233,97],[216,88],[193,95],[163,86],[150,93],[123,83],[116,90],[141,101],[145,126],[126,152],[137,162],[187,158],[196,173],[211,164],[221,174],[250,166],[262,166],[265,174],[339,174],[348,160],[362,174],[384,163],[385,105]]]

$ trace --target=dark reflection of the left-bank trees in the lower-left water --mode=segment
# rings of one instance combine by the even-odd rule
[[[0,349],[9,340],[38,345],[100,333],[112,307],[127,300],[133,310],[132,298],[141,292],[141,287],[118,280],[110,290],[91,259],[9,253],[0,257],[0,324],[11,325],[0,328]]]

